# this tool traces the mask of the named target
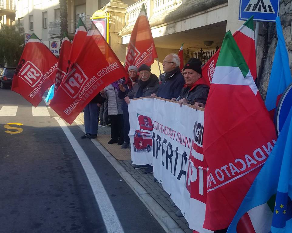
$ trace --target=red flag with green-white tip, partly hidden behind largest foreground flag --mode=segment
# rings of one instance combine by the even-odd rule
[[[253,16],[250,17],[236,32],[233,37],[242,53],[253,80],[256,80],[256,47],[253,31]],[[202,68],[202,76],[206,79],[207,85],[210,86],[215,71],[216,62],[220,49],[209,59]]]

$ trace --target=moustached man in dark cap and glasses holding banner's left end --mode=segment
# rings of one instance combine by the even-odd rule
[[[159,87],[159,81],[155,74],[151,73],[149,66],[143,64],[139,67],[140,79],[138,83],[134,85],[133,89],[125,96],[124,100],[127,104],[130,103],[130,99],[151,96],[155,93]],[[134,165],[135,169],[146,168],[145,174],[153,173],[153,166],[149,164]]]

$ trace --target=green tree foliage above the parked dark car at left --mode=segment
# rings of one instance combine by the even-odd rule
[[[3,25],[0,29],[0,64],[16,67],[24,48],[24,34],[16,26]]]

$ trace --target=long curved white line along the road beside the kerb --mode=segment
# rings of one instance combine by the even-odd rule
[[[108,197],[107,192],[105,191],[105,188],[100,181],[100,178],[98,177],[94,167],[92,166],[84,150],[81,148],[76,138],[73,136],[73,134],[67,127],[66,123],[60,117],[54,118],[64,131],[71,146],[75,150],[78,159],[80,160],[80,163],[85,171],[85,174],[92,188],[95,200],[100,209],[100,213],[104,220],[104,225],[107,228],[107,233],[124,233],[119,218],[117,217],[114,207],[110,202],[110,198]]]

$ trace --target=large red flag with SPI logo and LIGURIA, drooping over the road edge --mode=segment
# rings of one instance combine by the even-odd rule
[[[63,78],[50,107],[71,124],[105,86],[126,76],[121,62],[92,24],[79,56]]]

